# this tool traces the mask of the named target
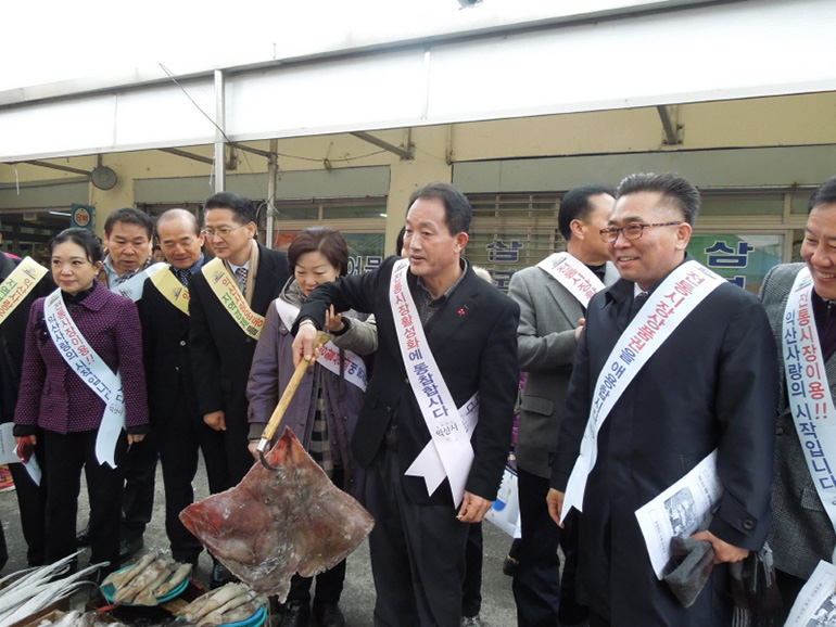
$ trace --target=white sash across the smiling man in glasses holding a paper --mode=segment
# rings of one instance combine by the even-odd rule
[[[598,432],[616,401],[659,346],[725,279],[697,261],[677,266],[633,318],[604,362],[595,383],[590,420],[563,498],[562,516],[583,511],[586,479],[598,458]]]

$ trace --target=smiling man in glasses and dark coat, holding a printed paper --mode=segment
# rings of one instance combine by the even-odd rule
[[[558,522],[569,514],[563,498],[580,492],[567,492],[567,485],[574,487],[580,478],[585,491],[583,513],[575,512],[578,586],[593,627],[730,625],[726,562],[759,550],[771,524],[771,417],[777,400],[772,333],[752,294],[685,253],[699,208],[696,188],[674,175],[632,175],[617,199],[601,236],[622,279],[590,302],[553,465],[549,511]],[[631,316],[637,330],[624,341],[636,340],[631,347],[636,358],[628,354],[623,362],[625,354],[613,347]],[[671,330],[663,341],[663,333],[648,335],[661,328],[662,317]],[[619,385],[622,379],[629,383]],[[596,413],[608,402],[610,409]],[[592,446],[582,449],[584,438]],[[715,449],[723,494],[708,528],[694,536],[711,543],[715,565],[686,609],[656,577],[635,511]],[[591,450],[597,451],[592,468]]]

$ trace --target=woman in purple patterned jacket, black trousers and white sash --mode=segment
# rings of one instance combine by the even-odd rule
[[[43,440],[50,488],[47,560],[54,562],[76,550],[84,469],[90,499],[90,560],[110,562],[101,573],[106,574],[118,567],[123,487],[118,463],[149,426],[137,307],[99,283],[101,259],[101,242],[86,229],[66,229],[50,242],[59,291],[31,307],[14,435],[35,439],[38,427]],[[114,373],[125,382],[122,393]],[[99,384],[88,383],[92,380]]]

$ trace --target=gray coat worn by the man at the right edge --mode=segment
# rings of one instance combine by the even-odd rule
[[[787,404],[781,327],[793,282],[803,267],[803,264],[785,264],[772,268],[763,280],[761,299],[775,335],[781,376],[772,483],[774,525],[770,532],[769,543],[777,568],[807,579],[819,564],[819,560],[831,560],[836,534],[815,491]],[[825,370],[831,396],[836,398],[836,356],[826,361]]]

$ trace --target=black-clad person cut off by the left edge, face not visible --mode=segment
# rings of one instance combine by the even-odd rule
[[[2,242],[2,235],[0,235]],[[5,253],[0,253],[0,283],[20,265],[20,259],[12,259]],[[31,304],[55,290],[52,274],[47,271],[42,278],[28,291],[20,304],[0,323],[0,423],[14,421],[14,408],[17,404],[17,391],[21,385],[21,366],[23,364],[23,347],[26,337],[26,323],[29,320]],[[0,304],[12,299],[11,295],[0,298]],[[3,309],[5,307],[3,306]],[[36,449],[36,457],[41,462],[42,447]],[[23,464],[11,463],[9,470],[14,479],[17,506],[21,509],[21,527],[26,540],[26,558],[30,566],[40,566],[47,556],[46,523],[47,523],[47,485],[42,479],[36,484]],[[0,526],[0,567],[5,563],[5,538]]]

